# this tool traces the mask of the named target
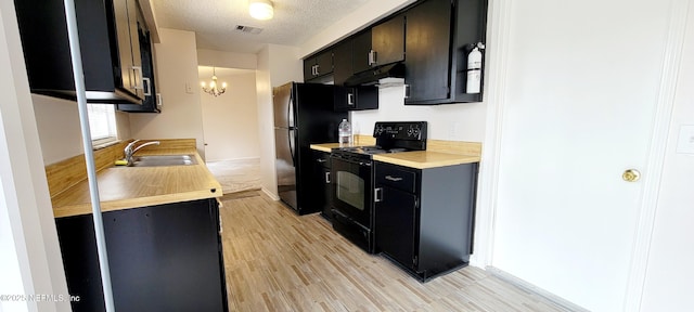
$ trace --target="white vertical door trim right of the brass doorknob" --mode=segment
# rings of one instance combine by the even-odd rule
[[[629,268],[629,281],[625,296],[624,311],[640,311],[648,269],[648,255],[658,208],[658,195],[663,178],[663,167],[667,152],[672,112],[677,93],[679,68],[686,35],[689,0],[673,0],[670,8],[669,25],[664,47],[663,72],[656,113],[653,123],[643,192],[641,194],[640,216],[634,233],[634,244]]]

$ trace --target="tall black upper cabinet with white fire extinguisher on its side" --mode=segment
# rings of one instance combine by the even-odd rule
[[[404,104],[481,102],[481,92],[466,93],[466,68],[472,47],[485,42],[487,0],[427,0],[406,14]]]

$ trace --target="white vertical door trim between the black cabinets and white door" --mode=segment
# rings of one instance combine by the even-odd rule
[[[487,129],[479,170],[475,250],[471,257],[471,264],[479,268],[490,265],[493,260],[499,164],[501,162],[501,139],[506,107],[506,82],[509,80],[511,8],[512,0],[491,1],[487,18],[490,26],[487,35],[489,40],[486,42],[488,66],[485,70]]]

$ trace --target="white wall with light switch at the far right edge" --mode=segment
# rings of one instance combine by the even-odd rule
[[[677,152],[681,127],[694,125],[694,5],[691,2],[686,23],[641,311],[694,311],[691,238],[694,237],[694,154]]]

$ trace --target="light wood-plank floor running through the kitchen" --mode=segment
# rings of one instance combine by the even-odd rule
[[[472,266],[421,284],[261,192],[222,203],[230,311],[568,311]]]

